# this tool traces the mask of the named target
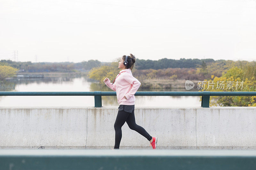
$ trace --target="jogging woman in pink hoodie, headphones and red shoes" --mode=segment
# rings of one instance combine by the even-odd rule
[[[130,129],[135,130],[142,136],[146,137],[149,141],[149,145],[156,149],[157,137],[151,137],[148,132],[141,126],[135,123],[134,116],[134,94],[140,87],[140,82],[137,78],[132,76],[132,68],[135,63],[135,56],[124,55],[120,58],[118,68],[122,69],[116,76],[113,83],[110,83],[108,78],[104,79],[105,84],[116,91],[117,102],[120,104],[118,107],[118,113],[116,116],[116,122],[114,124],[116,136],[114,149],[119,149],[119,145],[122,138],[122,126],[126,122]],[[115,83],[114,83],[115,82]]]

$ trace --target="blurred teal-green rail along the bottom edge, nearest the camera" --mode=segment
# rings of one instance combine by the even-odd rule
[[[250,150],[0,150],[1,169],[256,169]]]

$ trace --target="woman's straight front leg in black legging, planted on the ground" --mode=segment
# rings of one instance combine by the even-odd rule
[[[114,128],[116,131],[116,137],[115,137],[115,147],[114,149],[119,149],[119,145],[121,142],[122,138],[122,126],[124,125],[127,117],[129,116],[130,113],[125,112],[125,111],[118,111],[117,116],[116,116],[116,122],[114,124]]]

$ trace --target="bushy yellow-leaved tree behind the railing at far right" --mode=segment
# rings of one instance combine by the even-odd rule
[[[212,75],[212,79],[199,82],[197,88],[212,92],[255,92],[256,79],[254,76],[247,78],[245,72],[247,71],[233,67],[221,77]],[[256,106],[256,96],[211,96],[210,106]]]

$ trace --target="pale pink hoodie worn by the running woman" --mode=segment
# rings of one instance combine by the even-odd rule
[[[105,84],[112,90],[116,91],[117,102],[120,105],[134,105],[136,100],[134,94],[139,89],[140,82],[137,78],[132,76],[131,69],[124,69],[119,73],[120,75],[118,74],[116,76],[116,80],[113,85],[110,83],[110,80],[106,81]],[[124,98],[124,95],[127,100]]]

